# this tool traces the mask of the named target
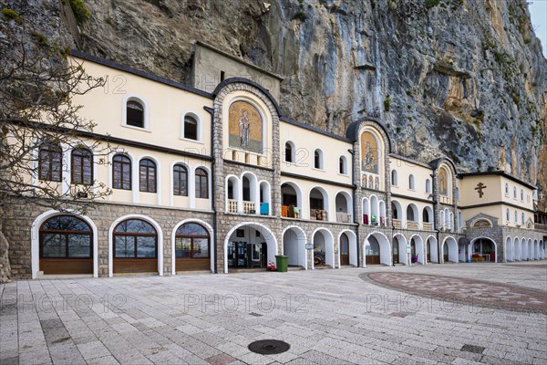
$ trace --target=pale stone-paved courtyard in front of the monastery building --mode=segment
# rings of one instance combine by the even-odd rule
[[[545,261],[35,280],[0,290],[2,365],[547,363]],[[466,291],[503,294],[478,302]],[[259,355],[247,348],[257,339],[290,349]]]

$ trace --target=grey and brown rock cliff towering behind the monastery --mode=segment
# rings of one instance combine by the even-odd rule
[[[283,76],[294,120],[344,134],[377,116],[398,153],[444,153],[460,171],[504,169],[547,188],[547,62],[524,0],[86,5],[92,17],[71,36],[91,54],[188,81],[201,40]]]

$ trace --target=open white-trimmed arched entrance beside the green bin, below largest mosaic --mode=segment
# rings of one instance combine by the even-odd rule
[[[234,226],[224,238],[224,273],[231,269],[265,268],[275,265],[277,241],[263,224],[249,222]]]

